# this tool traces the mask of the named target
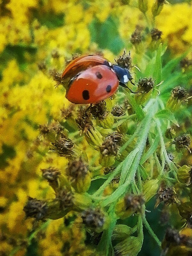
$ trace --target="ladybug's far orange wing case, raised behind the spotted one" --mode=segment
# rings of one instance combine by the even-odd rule
[[[63,71],[61,77],[62,79],[72,78],[77,73],[97,65],[109,66],[109,63],[106,59],[99,55],[83,55],[75,60],[72,60]]]

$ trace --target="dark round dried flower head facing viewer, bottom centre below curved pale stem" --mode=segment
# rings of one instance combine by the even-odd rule
[[[105,215],[99,208],[88,208],[81,214],[83,223],[92,229],[101,229],[105,223]]]

